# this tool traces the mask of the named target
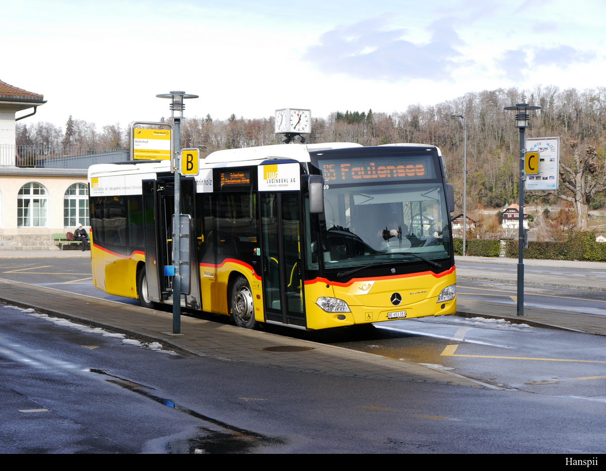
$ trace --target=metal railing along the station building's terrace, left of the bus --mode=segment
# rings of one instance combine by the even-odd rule
[[[124,162],[122,148],[47,145],[0,145],[0,166],[84,169],[95,163]]]

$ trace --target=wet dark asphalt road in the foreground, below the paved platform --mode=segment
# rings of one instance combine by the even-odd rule
[[[0,345],[2,453],[604,452],[599,397],[161,354],[7,307]]]

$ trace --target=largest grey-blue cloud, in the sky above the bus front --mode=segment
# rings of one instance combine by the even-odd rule
[[[458,67],[455,61],[461,53],[454,47],[461,40],[445,21],[431,25],[428,32],[429,42],[411,42],[404,39],[407,29],[387,29],[381,19],[368,19],[327,31],[304,57],[324,73],[359,79],[448,79]]]

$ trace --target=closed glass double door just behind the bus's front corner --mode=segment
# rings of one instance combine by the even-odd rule
[[[305,328],[300,194],[260,196],[265,321]]]

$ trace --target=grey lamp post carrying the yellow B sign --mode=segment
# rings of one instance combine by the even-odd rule
[[[156,95],[158,98],[170,98],[171,118],[175,122],[175,155],[173,157],[173,173],[175,174],[175,213],[173,214],[173,334],[181,334],[181,241],[179,240],[179,214],[181,214],[181,119],[185,98],[198,98],[198,95],[185,94],[184,91],[171,91]]]

